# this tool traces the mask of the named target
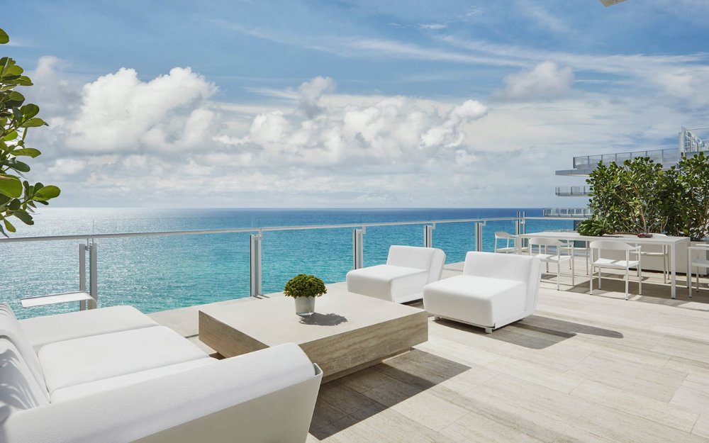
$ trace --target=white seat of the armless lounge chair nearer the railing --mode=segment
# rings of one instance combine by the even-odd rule
[[[427,270],[379,264],[348,272],[347,291],[401,302],[420,298],[427,281]]]

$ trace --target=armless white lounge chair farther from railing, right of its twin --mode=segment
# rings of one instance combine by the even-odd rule
[[[468,252],[462,275],[423,288],[423,305],[437,317],[490,333],[534,313],[540,279],[535,257]]]

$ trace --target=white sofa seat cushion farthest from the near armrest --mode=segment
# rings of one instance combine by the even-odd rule
[[[35,352],[39,352],[41,347],[49,343],[158,324],[133,306],[113,306],[28,318],[21,320],[20,325]]]

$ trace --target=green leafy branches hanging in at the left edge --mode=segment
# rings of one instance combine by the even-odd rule
[[[8,35],[0,29],[0,44],[9,41]],[[35,158],[41,154],[25,144],[27,130],[47,125],[37,117],[39,106],[25,104],[25,97],[14,90],[17,86],[32,86],[23,72],[15,60],[0,58],[0,233],[5,237],[8,236],[5,230],[16,231],[9,218],[33,225],[31,213],[36,203],[48,205],[51,198],[60,194],[57,186],[30,184],[25,180],[24,174],[30,172],[30,167],[18,160],[18,157]]]

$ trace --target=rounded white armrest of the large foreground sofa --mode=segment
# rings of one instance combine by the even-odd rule
[[[286,352],[283,352],[284,347],[295,349],[285,349]],[[278,348],[281,348],[280,352]],[[277,349],[277,352],[274,352],[274,349]],[[298,352],[302,355],[298,355]],[[303,359],[307,360],[307,371],[303,367]],[[172,428],[188,422],[194,424],[193,420],[199,422],[198,419],[204,420],[203,417],[216,416],[220,411],[264,396],[275,395],[274,401],[269,403],[269,406],[272,405],[278,410],[281,401],[284,405],[288,404],[281,398],[283,396],[279,396],[278,391],[302,383],[307,383],[308,386],[306,391],[300,392],[301,399],[304,403],[308,403],[311,399],[313,403],[303,405],[306,415],[310,408],[307,423],[304,425],[307,434],[321,377],[322,371],[311,364],[300,348],[295,344],[282,345],[240,357],[215,361],[214,364],[199,366],[179,374],[155,378],[132,386],[11,413],[5,422],[0,424],[0,441],[6,443],[128,443],[145,437],[148,437],[146,441],[164,441],[164,437],[152,439],[151,436],[169,432]],[[289,405],[289,408],[292,407],[293,405]],[[246,410],[248,409],[254,408]],[[241,413],[243,410],[244,408],[235,413]],[[266,411],[255,412],[264,414]],[[273,420],[273,411],[269,412]],[[284,411],[284,415],[287,414],[288,411]],[[277,416],[280,420],[281,416],[278,412]],[[305,415],[303,420],[304,417]],[[225,418],[221,417],[220,420],[220,424],[223,425]],[[226,421],[244,425],[239,422],[238,417],[227,417]],[[246,426],[249,426],[249,422]],[[194,426],[192,431],[194,432]],[[208,432],[209,429],[200,429],[200,432],[203,431]],[[233,432],[248,434],[251,431],[234,430]],[[268,430],[263,432],[265,434]],[[222,438],[225,439],[224,436]],[[231,434],[230,438],[234,439],[235,434]],[[273,437],[264,437],[264,441],[266,438]],[[170,440],[189,441],[182,438],[174,439],[174,436],[167,441]]]

